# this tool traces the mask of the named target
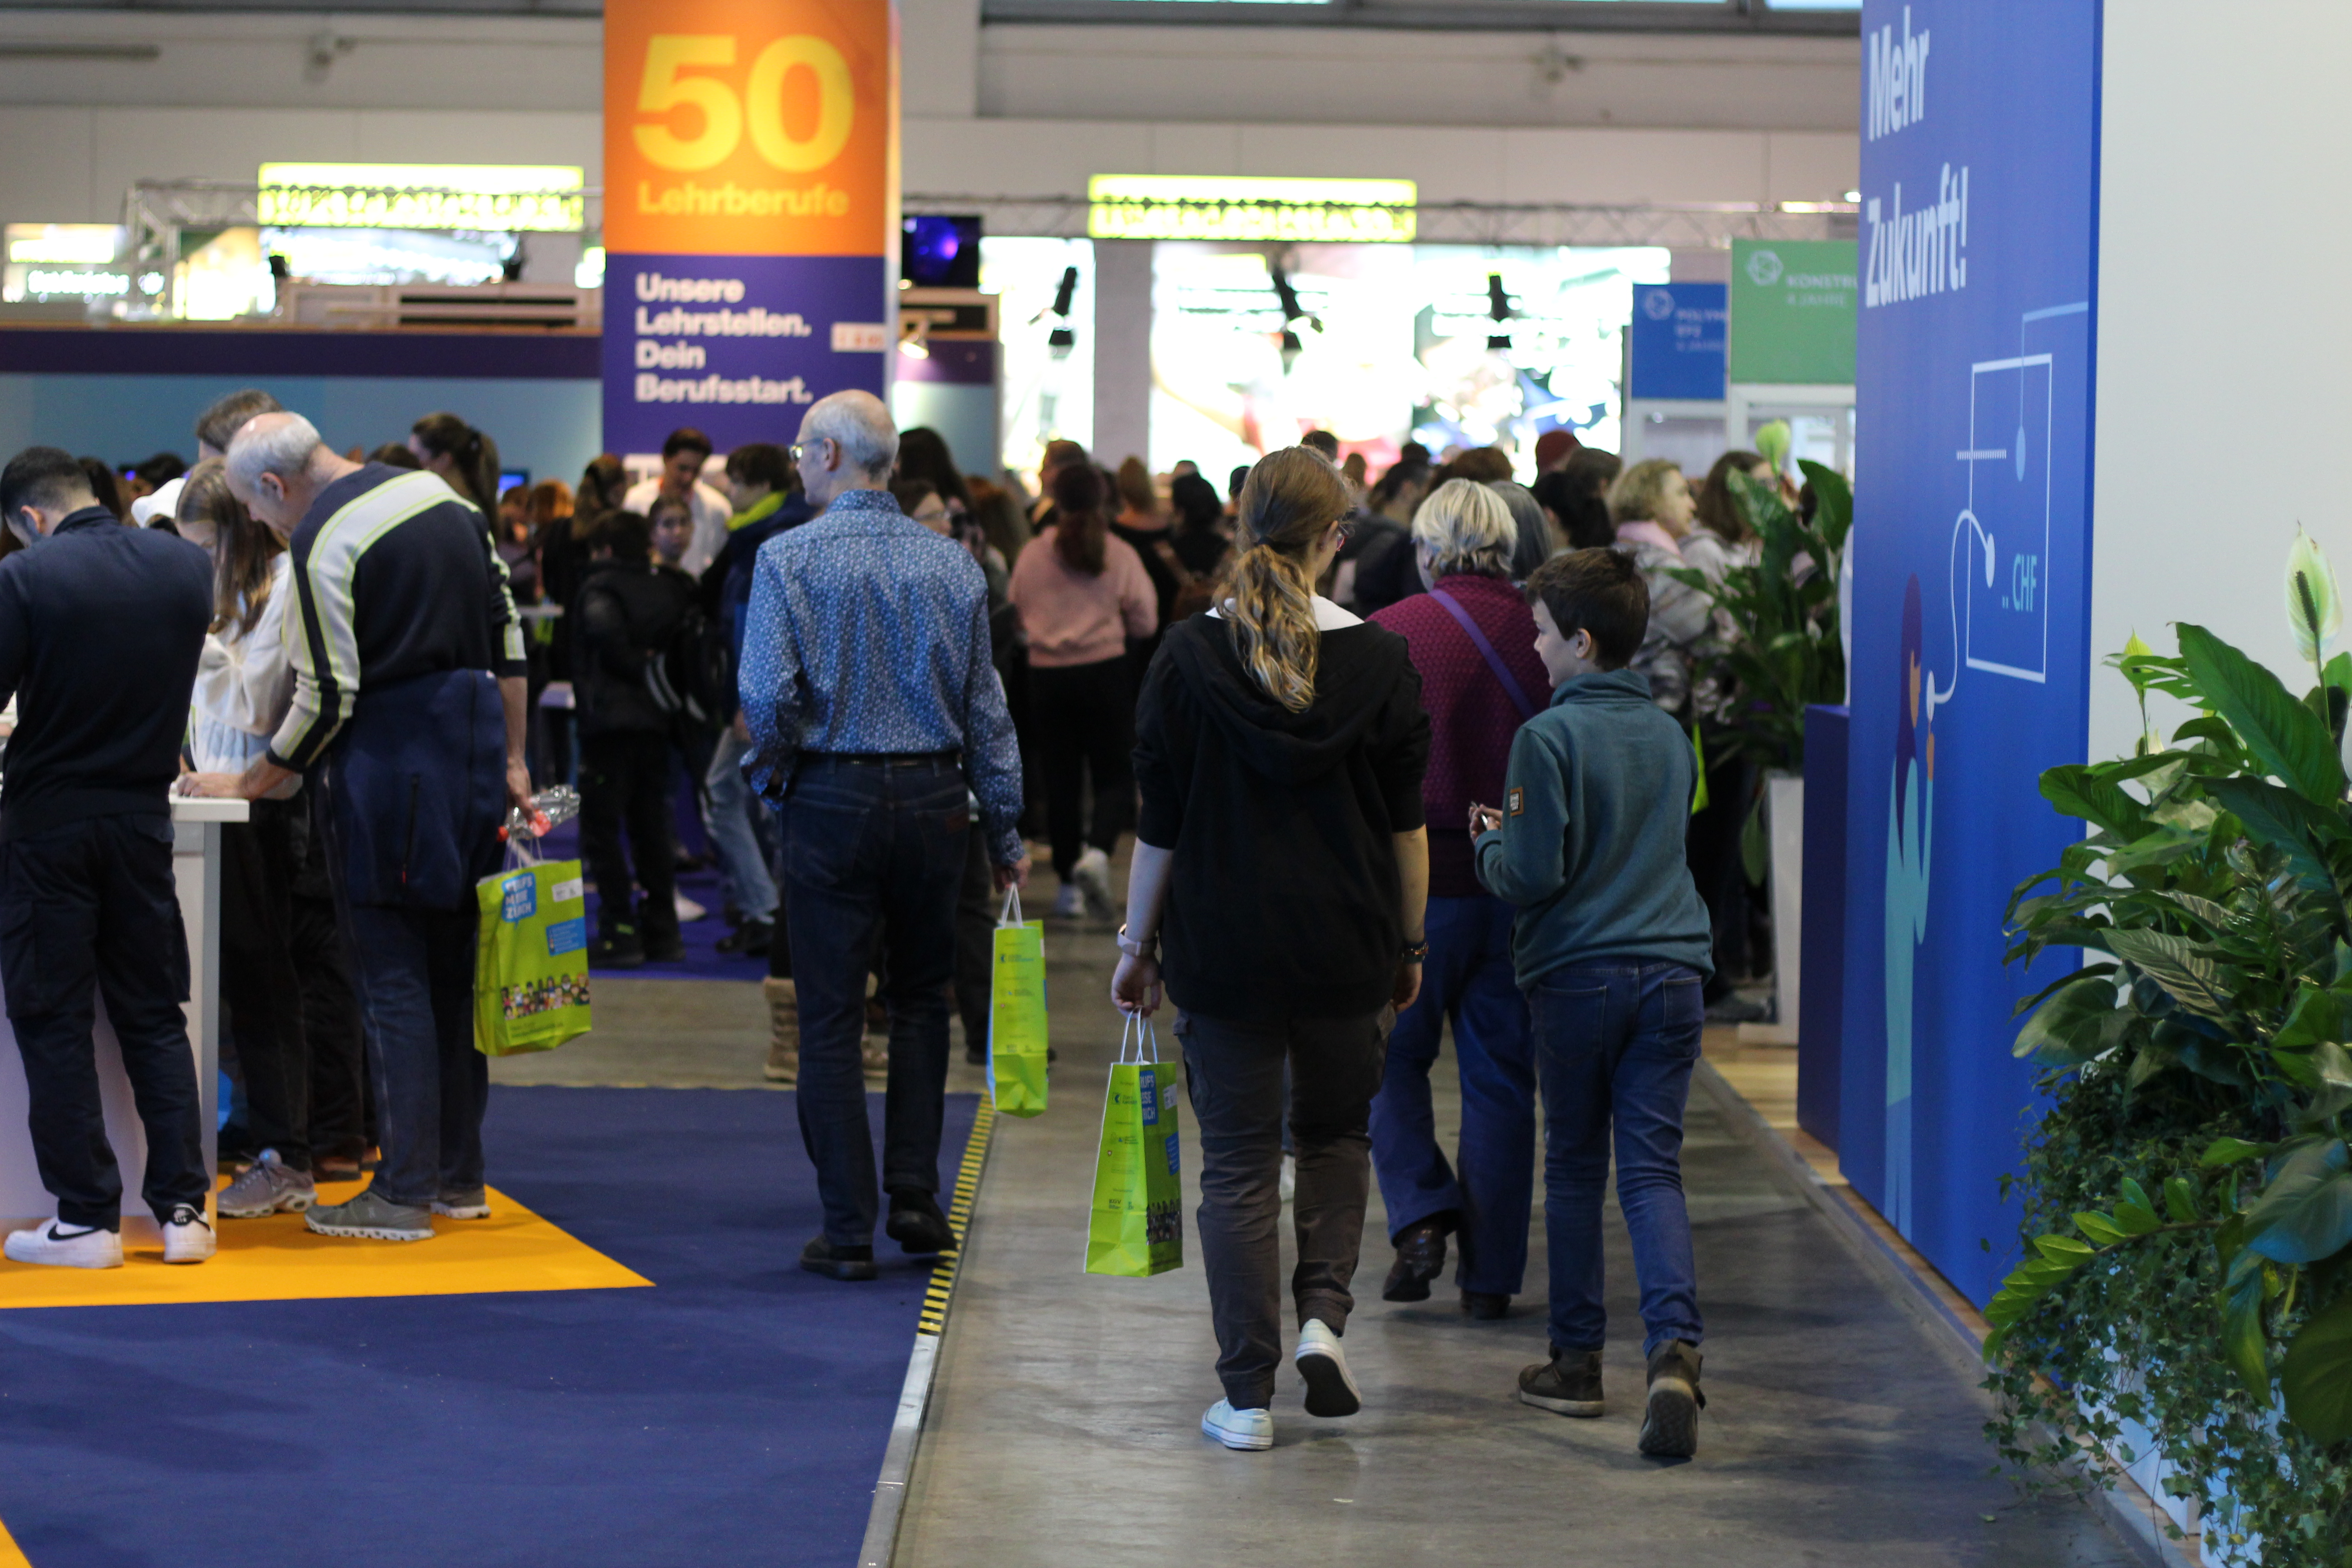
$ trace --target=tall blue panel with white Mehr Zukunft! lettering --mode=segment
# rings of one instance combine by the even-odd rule
[[[2058,961],[2002,912],[2086,745],[2098,0],[1870,0],[1863,45],[1839,1166],[1983,1302]]]

